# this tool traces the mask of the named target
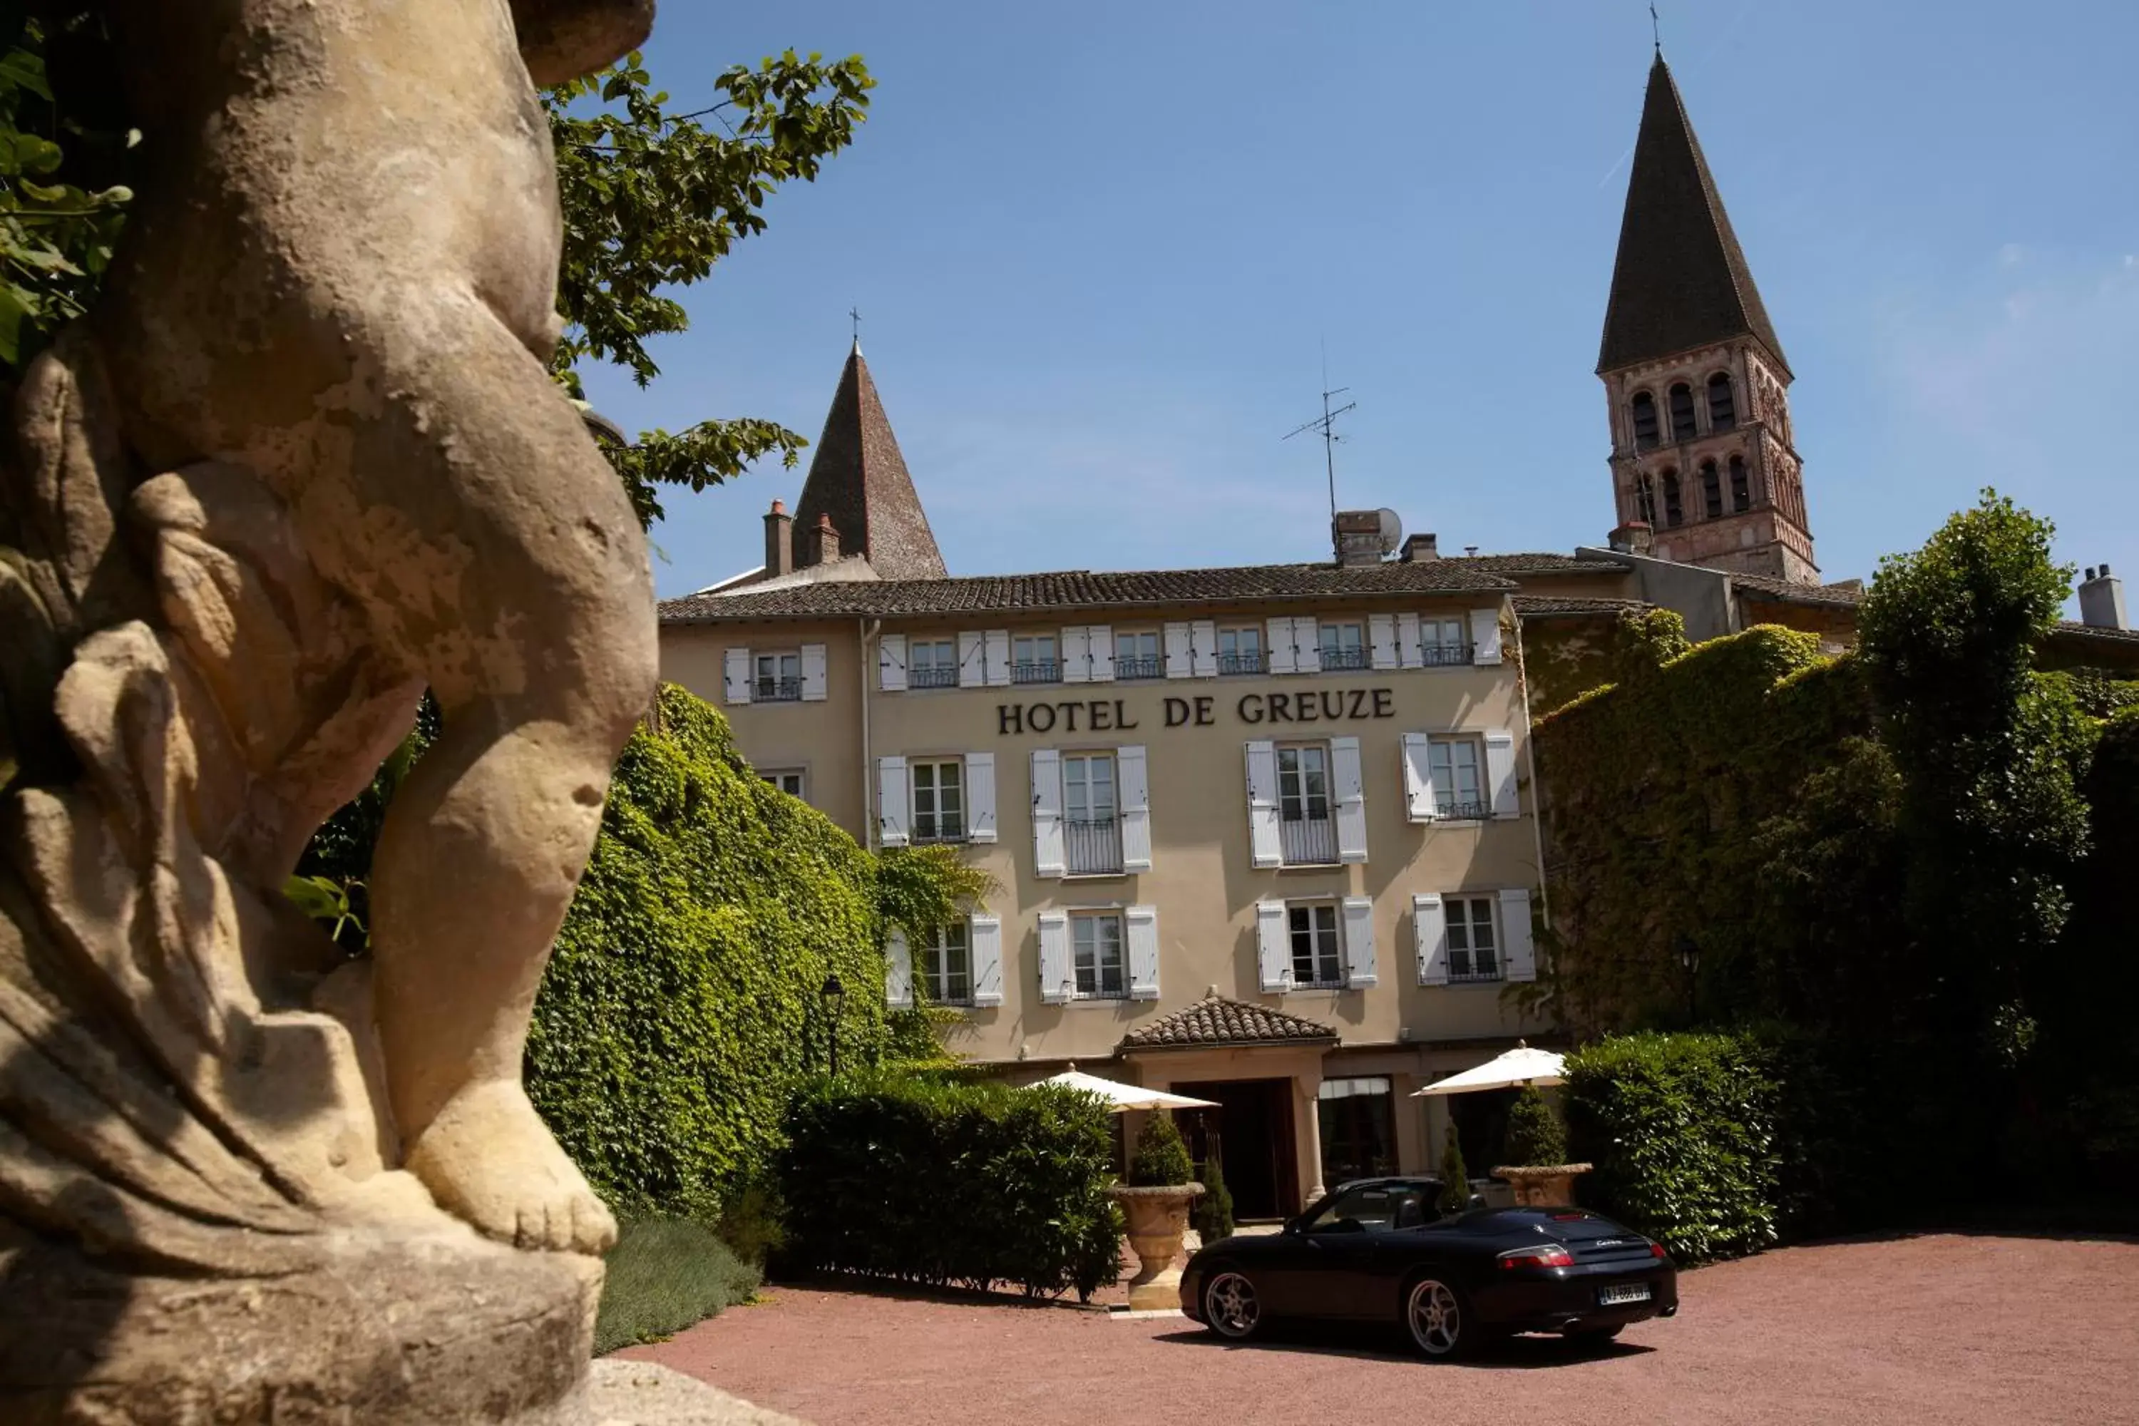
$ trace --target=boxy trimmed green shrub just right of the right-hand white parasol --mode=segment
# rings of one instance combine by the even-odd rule
[[[1568,1129],[1596,1163],[1585,1197],[1673,1255],[1775,1242],[1780,1086],[1733,1035],[1621,1035],[1568,1056]]]

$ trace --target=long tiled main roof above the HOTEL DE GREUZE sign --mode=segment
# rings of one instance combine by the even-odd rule
[[[742,618],[894,618],[926,614],[1003,614],[1016,609],[1157,609],[1262,599],[1358,599],[1373,594],[1502,594],[1517,586],[1461,560],[1407,564],[1243,564],[1232,569],[1089,571],[1050,575],[969,575],[965,579],[881,579],[740,588],[684,594],[661,605],[663,624]]]

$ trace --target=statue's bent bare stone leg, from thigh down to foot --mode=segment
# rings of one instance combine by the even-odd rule
[[[486,308],[464,308],[430,299],[421,329],[383,338],[385,410],[347,428],[351,475],[308,485],[297,511],[445,714],[370,881],[404,1161],[494,1238],[599,1253],[616,1227],[520,1063],[610,765],[652,701],[652,577],[580,417]]]

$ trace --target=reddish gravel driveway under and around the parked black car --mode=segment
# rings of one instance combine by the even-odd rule
[[[1221,1345],[1179,1317],[770,1287],[620,1355],[815,1426],[1151,1422],[2133,1422],[2139,1244],[1923,1236],[1784,1249],[1679,1278],[1604,1351],[1514,1338],[1472,1364],[1392,1334]]]

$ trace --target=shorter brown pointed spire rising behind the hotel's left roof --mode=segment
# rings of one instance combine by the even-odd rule
[[[853,340],[847,368],[838,374],[832,410],[824,417],[817,453],[796,502],[796,567],[813,564],[809,549],[817,517],[830,515],[843,554],[866,554],[879,579],[943,579],[922,498],[907,475],[907,462],[883,415],[877,383],[862,361],[862,340]]]

